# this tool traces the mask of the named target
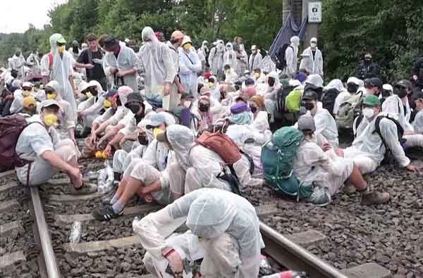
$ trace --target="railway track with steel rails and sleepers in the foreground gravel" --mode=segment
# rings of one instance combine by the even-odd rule
[[[102,163],[87,164],[87,168],[94,170],[101,166]],[[11,177],[9,182],[1,184],[0,192],[22,190],[13,175],[13,172],[8,172],[0,176]],[[57,191],[64,184],[68,184],[68,179],[59,174],[49,181],[45,192],[36,187],[29,189],[30,215],[34,221],[33,236],[39,257],[38,273],[30,272],[27,277],[152,277],[145,272],[142,265],[144,251],[132,232],[131,223],[135,215],[142,217],[161,207],[133,202],[125,208],[123,217],[106,223],[98,222],[90,211],[92,204],[99,205],[104,195],[95,193],[71,196],[66,191],[58,194]],[[7,201],[1,203],[3,206],[4,203],[10,206]],[[278,210],[280,208],[271,203],[257,206],[257,214],[261,219],[271,217]],[[74,221],[80,221],[83,227],[82,242],[75,244],[68,242],[69,228]],[[6,234],[6,227],[9,232],[19,229],[18,224],[13,222],[8,226],[2,225],[0,232]],[[390,277],[388,270],[376,264],[336,270],[329,263],[312,255],[304,247],[326,239],[326,236],[317,231],[306,230],[298,234],[282,235],[265,222],[260,223],[260,229],[266,244],[265,252],[272,260],[286,269],[304,270],[310,278]],[[110,232],[113,230],[116,233]],[[0,257],[0,277],[25,277],[20,274],[13,276],[3,270],[13,269],[16,264],[27,260],[25,250],[3,254]]]

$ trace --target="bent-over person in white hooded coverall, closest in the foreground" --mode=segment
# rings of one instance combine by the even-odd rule
[[[133,222],[146,251],[157,260],[166,258],[176,274],[183,272],[181,258],[186,247],[175,249],[166,244],[166,238],[185,220],[192,234],[201,239],[204,277],[258,276],[264,243],[255,208],[245,198],[219,189],[199,189]]]

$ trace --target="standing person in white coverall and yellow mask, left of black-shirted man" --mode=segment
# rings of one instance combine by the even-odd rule
[[[78,116],[76,113],[76,90],[73,84],[73,57],[66,51],[66,40],[61,34],[51,35],[50,47],[53,55],[50,80],[59,83],[59,88],[56,88],[56,91],[63,100],[68,101],[71,105],[68,118],[76,122]]]

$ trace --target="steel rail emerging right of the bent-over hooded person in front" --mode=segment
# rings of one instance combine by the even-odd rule
[[[266,253],[277,263],[290,270],[305,271],[309,278],[348,278],[324,260],[293,243],[268,225],[260,222],[260,232]]]

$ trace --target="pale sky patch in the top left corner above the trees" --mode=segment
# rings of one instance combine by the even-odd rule
[[[49,23],[48,11],[67,0],[0,0],[0,33],[23,33],[32,23],[42,28]]]

